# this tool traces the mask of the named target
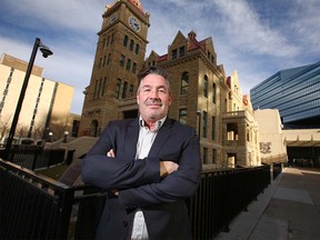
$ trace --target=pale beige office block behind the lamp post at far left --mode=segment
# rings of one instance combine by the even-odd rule
[[[2,54],[0,61],[0,139],[8,137],[17,108],[18,99],[26,77],[28,62]],[[63,137],[64,131],[72,132],[74,119],[70,114],[73,87],[51,81],[42,77],[43,69],[33,66],[14,138]]]

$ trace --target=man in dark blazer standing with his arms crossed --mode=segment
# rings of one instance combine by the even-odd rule
[[[191,239],[184,200],[201,159],[193,128],[167,117],[166,72],[150,67],[137,93],[140,117],[111,121],[83,159],[82,180],[108,190],[98,239]]]

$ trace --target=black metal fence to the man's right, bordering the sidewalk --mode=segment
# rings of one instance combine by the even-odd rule
[[[270,183],[270,166],[202,173],[189,202],[193,239],[213,239]]]

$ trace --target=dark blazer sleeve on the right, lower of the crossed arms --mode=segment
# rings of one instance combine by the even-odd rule
[[[189,134],[182,138],[188,140],[183,140],[186,144],[180,154],[178,171],[167,176],[159,183],[120,191],[119,201],[124,208],[184,200],[196,193],[202,170],[199,139],[196,130],[191,128],[189,128]],[[157,160],[150,158],[150,161]]]

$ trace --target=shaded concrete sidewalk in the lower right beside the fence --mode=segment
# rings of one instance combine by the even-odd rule
[[[319,240],[320,169],[286,168],[214,240]]]

